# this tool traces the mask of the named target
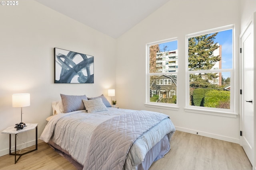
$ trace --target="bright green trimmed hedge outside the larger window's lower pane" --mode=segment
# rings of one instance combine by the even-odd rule
[[[228,109],[230,107],[230,92],[224,90],[211,90],[204,95],[204,107]],[[228,108],[226,108],[228,107]]]

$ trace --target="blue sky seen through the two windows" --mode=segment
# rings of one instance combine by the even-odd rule
[[[215,43],[222,45],[222,69],[232,68],[232,29],[226,31],[220,31],[214,39]],[[171,41],[167,43],[159,44],[160,51],[163,51],[164,46],[167,47],[167,51],[176,50],[178,47],[178,41]],[[230,77],[230,72],[222,72],[224,78]]]

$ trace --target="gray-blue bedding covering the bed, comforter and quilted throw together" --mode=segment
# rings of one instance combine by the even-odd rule
[[[136,170],[147,152],[166,134],[170,140],[174,131],[168,115],[110,107],[54,115],[40,139],[66,150],[86,165],[84,170]]]

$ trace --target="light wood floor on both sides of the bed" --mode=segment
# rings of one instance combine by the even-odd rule
[[[244,150],[238,144],[176,131],[171,147],[170,152],[154,162],[150,170],[252,170]],[[0,157],[0,170],[76,168],[46,143],[40,143],[38,150],[22,155],[16,164],[12,155]]]

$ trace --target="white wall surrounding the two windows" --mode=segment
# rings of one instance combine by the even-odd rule
[[[117,47],[118,106],[162,111],[178,130],[239,143],[237,118],[189,113],[185,108],[186,34],[235,24],[236,113],[239,114],[240,0],[169,1],[120,38]],[[146,43],[178,37],[178,111],[145,107]]]

